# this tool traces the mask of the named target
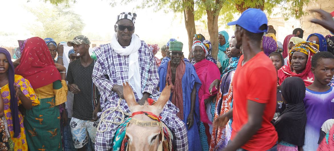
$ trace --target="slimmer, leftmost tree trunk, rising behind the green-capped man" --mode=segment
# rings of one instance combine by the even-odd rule
[[[191,46],[192,46],[192,41],[193,41],[193,35],[196,34],[196,28],[195,28],[195,17],[194,17],[194,1],[193,0],[184,0],[184,3],[189,1],[192,3],[190,7],[186,7],[183,10],[184,14],[184,23],[187,29],[187,34],[188,34],[188,51],[190,52]],[[191,54],[189,53],[188,58],[191,59]]]

